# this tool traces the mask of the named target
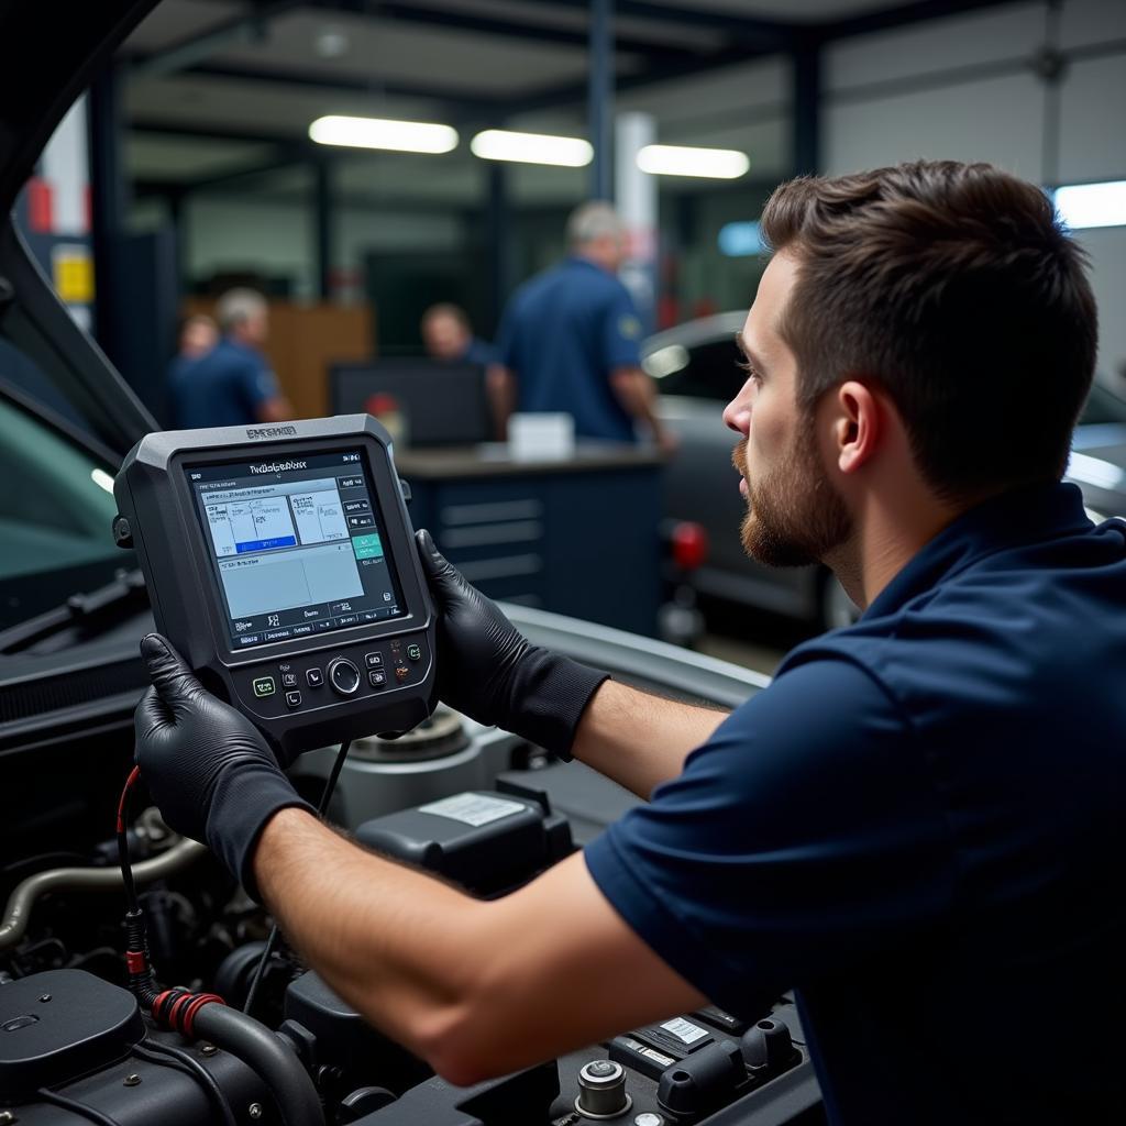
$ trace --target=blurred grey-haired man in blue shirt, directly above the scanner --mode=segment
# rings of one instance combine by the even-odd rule
[[[229,289],[215,312],[223,338],[177,361],[169,375],[176,426],[190,430],[293,418],[261,350],[270,323],[266,298],[253,289]]]

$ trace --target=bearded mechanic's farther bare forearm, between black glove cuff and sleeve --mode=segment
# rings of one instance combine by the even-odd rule
[[[590,700],[571,749],[577,759],[647,798],[676,778],[725,712],[692,707],[607,680]]]

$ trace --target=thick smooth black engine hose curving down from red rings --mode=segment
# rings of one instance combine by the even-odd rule
[[[205,1004],[194,1016],[197,1036],[256,1071],[274,1093],[283,1126],[324,1126],[324,1111],[297,1054],[253,1017],[225,1004]]]

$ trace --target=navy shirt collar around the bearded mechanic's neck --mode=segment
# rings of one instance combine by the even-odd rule
[[[991,497],[948,524],[879,592],[865,618],[894,614],[910,599],[994,552],[1091,527],[1073,484],[1028,485]]]

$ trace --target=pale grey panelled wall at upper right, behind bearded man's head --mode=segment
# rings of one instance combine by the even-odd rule
[[[825,171],[927,157],[988,160],[1044,185],[1126,179],[1126,3],[1065,0],[1054,91],[1031,65],[1048,34],[1047,6],[1020,3],[831,47]],[[1126,365],[1126,230],[1076,239],[1091,256],[1107,376]]]

